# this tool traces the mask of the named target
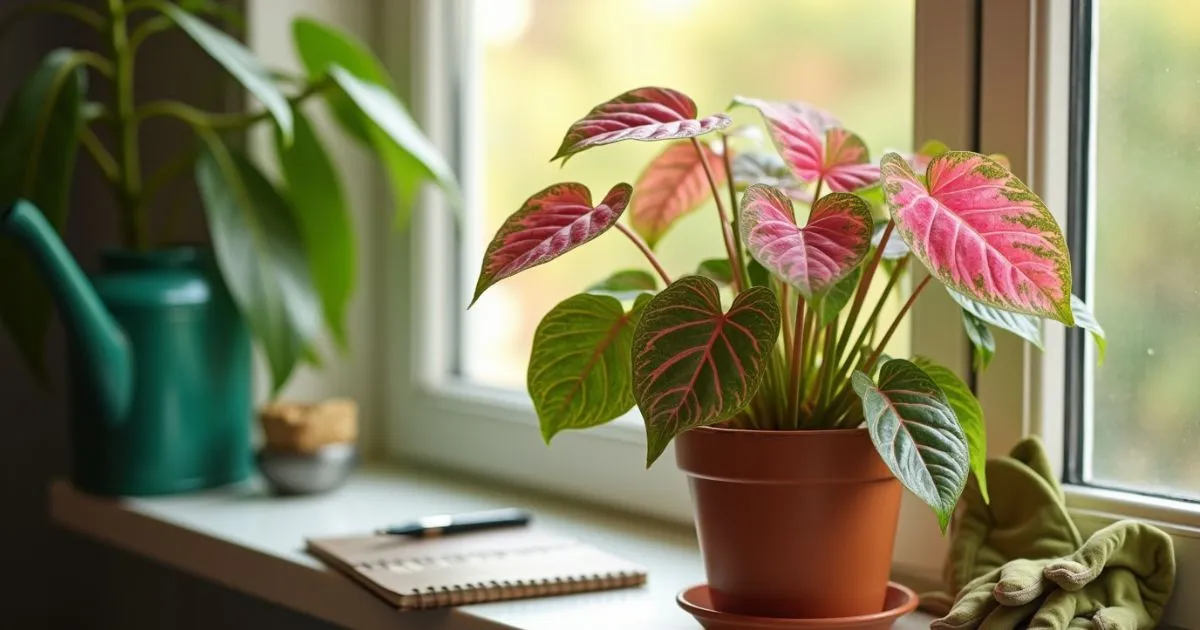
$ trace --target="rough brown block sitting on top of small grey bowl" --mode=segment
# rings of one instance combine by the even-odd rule
[[[274,402],[262,408],[266,448],[274,451],[313,452],[326,444],[359,437],[359,406],[348,398],[316,403]]]

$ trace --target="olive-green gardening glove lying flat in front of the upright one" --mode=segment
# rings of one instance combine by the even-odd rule
[[[1175,553],[1162,530],[1121,521],[1063,558],[1014,560],[960,593],[931,628],[1152,629],[1175,584]]]

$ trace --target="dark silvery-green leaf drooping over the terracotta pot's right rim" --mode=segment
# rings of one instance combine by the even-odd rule
[[[854,392],[871,442],[896,479],[937,512],[946,532],[971,466],[967,438],[946,394],[912,361],[893,359],[880,368],[878,385],[856,371]]]

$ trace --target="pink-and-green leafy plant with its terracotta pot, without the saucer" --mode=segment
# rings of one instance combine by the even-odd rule
[[[900,487],[943,530],[968,474],[986,487],[970,389],[926,359],[884,354],[913,302],[941,282],[980,359],[989,326],[1034,340],[1043,319],[1100,342],[1103,331],[1072,296],[1058,226],[1002,160],[929,143],[876,166],[858,136],[814,107],[733,106],[761,114],[778,155],[734,155],[731,119],[698,118],[670,89],[592,109],[554,160],[628,139],[668,144],[635,185],[599,202],[572,182],[533,194],[488,245],[475,299],[608,229],[628,236],[654,272],[619,271],[568,298],[534,335],[528,390],[544,438],[636,404],[647,466],[676,442],[719,611],[880,613]],[[668,272],[655,244],[708,196],[727,257]],[[884,318],[913,260],[928,275]]]

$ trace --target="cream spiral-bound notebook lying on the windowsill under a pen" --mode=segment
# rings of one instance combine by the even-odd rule
[[[637,564],[532,528],[431,539],[378,535],[310,539],[307,550],[400,610],[646,583],[646,570]]]

